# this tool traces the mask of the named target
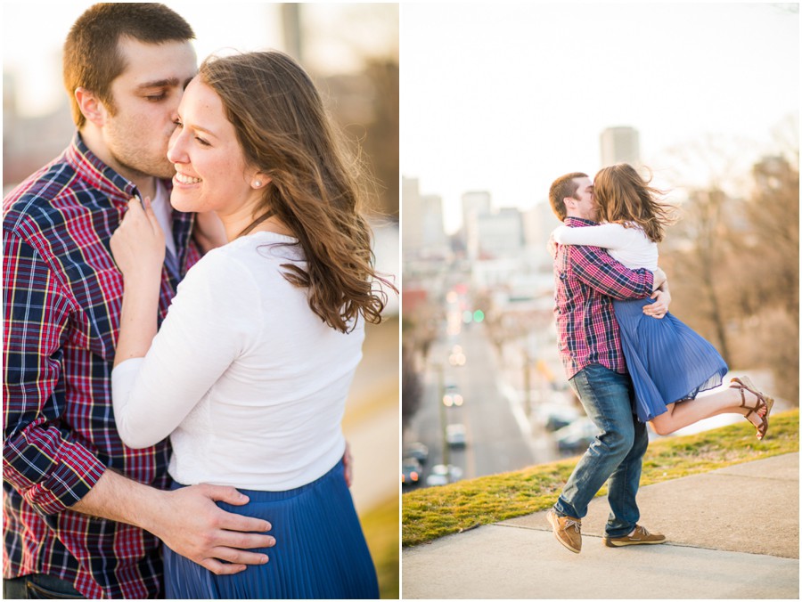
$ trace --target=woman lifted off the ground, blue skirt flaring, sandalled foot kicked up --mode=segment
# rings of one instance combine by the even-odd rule
[[[607,248],[610,256],[630,269],[655,270],[657,243],[674,222],[673,209],[662,201],[663,194],[626,163],[604,167],[593,178],[593,199],[603,224],[560,226],[554,240]],[[644,313],[643,308],[652,303],[649,297],[613,300],[638,418],[650,422],[659,435],[667,435],[716,414],[738,413],[755,425],[757,438],[762,439],[773,399],[758,391],[748,377],[732,378],[729,387],[697,397],[721,385],[727,365],[714,346],[672,313]]]

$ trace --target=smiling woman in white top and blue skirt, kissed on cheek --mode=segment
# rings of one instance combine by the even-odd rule
[[[187,273],[158,334],[164,238],[148,203],[132,200],[112,238],[126,283],[113,372],[123,441],[169,435],[176,486],[237,487],[249,503],[225,508],[273,525],[269,562],[237,574],[166,549],[168,598],[378,598],[340,421],[387,281],[338,140],[290,57],[208,59],[179,106],[170,201],[215,212],[228,242]]]

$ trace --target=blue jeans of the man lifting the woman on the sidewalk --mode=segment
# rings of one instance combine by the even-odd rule
[[[570,385],[601,432],[574,468],[554,509],[561,516],[585,517],[588,503],[609,479],[610,518],[605,532],[623,537],[641,517],[635,495],[649,445],[646,425],[634,415],[632,380],[628,374],[592,363],[579,370]]]

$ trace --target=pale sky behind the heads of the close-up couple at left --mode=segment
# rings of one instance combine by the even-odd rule
[[[94,2],[3,2],[4,71],[14,74],[23,114],[46,113],[61,102],[61,46],[72,23]],[[284,50],[276,3],[165,2],[195,32],[199,59],[210,53]],[[300,8],[307,32],[304,67],[317,75],[360,69],[364,54],[397,56],[397,4],[311,3]],[[46,13],[47,18],[42,15]]]

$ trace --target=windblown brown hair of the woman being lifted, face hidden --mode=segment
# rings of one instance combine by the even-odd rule
[[[593,198],[599,220],[610,224],[637,224],[652,242],[660,242],[666,227],[675,222],[674,207],[664,204],[665,194],[651,187],[628,163],[603,167],[593,178]]]

